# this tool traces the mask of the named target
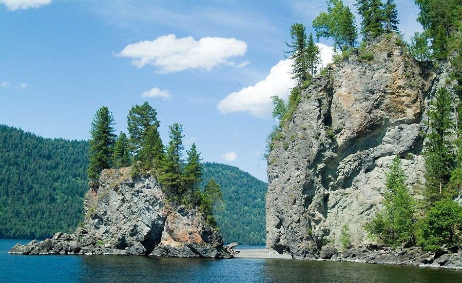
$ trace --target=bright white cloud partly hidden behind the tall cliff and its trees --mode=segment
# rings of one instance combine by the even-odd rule
[[[332,62],[334,48],[323,44],[316,44],[321,52],[321,65],[325,67]],[[218,103],[218,109],[222,114],[239,111],[248,111],[257,117],[271,115],[273,110],[272,96],[279,96],[287,100],[291,89],[295,86],[292,79],[292,60],[279,61],[264,80],[253,86],[248,86],[240,91],[233,92]]]

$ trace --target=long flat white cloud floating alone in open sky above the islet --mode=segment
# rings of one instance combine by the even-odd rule
[[[131,58],[137,68],[152,65],[158,73],[165,74],[196,68],[210,71],[218,65],[243,67],[248,61],[236,63],[229,57],[246,52],[247,44],[236,38],[202,37],[196,41],[192,36],[177,38],[169,34],[130,44],[117,56]]]

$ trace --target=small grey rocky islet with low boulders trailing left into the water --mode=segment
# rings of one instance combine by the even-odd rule
[[[132,178],[130,168],[107,169],[89,187],[82,227],[18,244],[10,253],[230,257],[204,215],[170,204],[149,175]]]

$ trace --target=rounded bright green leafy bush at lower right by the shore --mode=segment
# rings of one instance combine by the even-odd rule
[[[452,248],[460,243],[462,207],[449,198],[435,203],[422,221],[420,244],[427,250],[440,250],[441,246]]]

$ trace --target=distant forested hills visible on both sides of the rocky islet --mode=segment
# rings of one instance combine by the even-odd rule
[[[45,238],[83,219],[88,190],[87,141],[49,139],[0,125],[0,238]],[[215,212],[225,241],[264,244],[267,185],[223,164],[203,165],[224,203]]]

